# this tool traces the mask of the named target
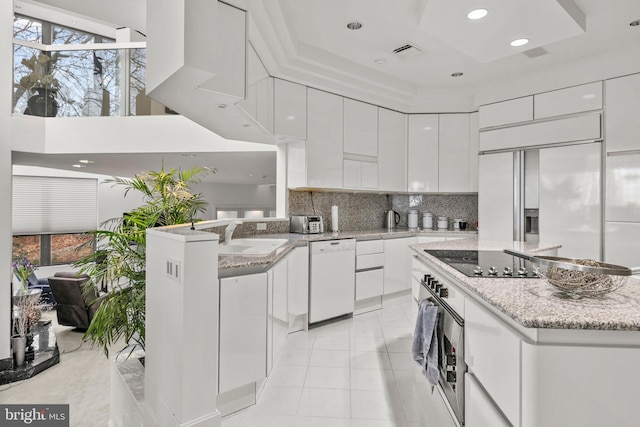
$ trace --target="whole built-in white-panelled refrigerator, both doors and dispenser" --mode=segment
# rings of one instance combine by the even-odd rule
[[[602,144],[481,153],[482,240],[562,245],[559,256],[602,259]]]

